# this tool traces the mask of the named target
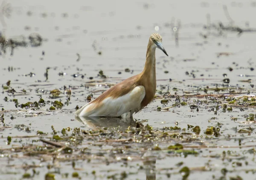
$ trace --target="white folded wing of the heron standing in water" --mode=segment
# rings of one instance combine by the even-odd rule
[[[121,116],[130,110],[140,109],[140,103],[145,97],[145,87],[136,86],[124,96],[113,99],[105,98],[101,105],[88,103],[76,111],[76,116]]]

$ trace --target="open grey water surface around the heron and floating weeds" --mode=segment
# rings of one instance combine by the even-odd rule
[[[0,84],[6,86],[6,82],[10,80],[9,89],[13,88],[16,91],[12,94],[2,90],[3,93],[0,93],[0,107],[4,110],[13,110],[0,114],[4,114],[0,131],[1,149],[31,144],[33,140],[38,140],[37,131],[50,135],[52,125],[56,131],[68,127],[71,129],[80,127],[89,131],[97,127],[120,125],[122,128],[127,128],[131,126],[131,122],[116,119],[107,121],[75,119],[75,107],[87,103],[86,97],[89,94],[93,94],[93,98],[99,96],[108,88],[105,84],[116,84],[140,73],[145,63],[149,35],[158,32],[162,35],[163,46],[169,54],[169,57],[166,57],[160,50],[156,52],[157,95],[159,96],[140,113],[134,115],[134,119],[148,119],[143,124],[149,124],[154,129],[175,125],[183,129],[187,128],[188,124],[198,125],[201,128],[201,139],[199,136],[195,143],[185,142],[185,145],[204,144],[209,148],[196,148],[200,152],[199,155],[187,157],[150,150],[140,153],[138,150],[135,153],[136,158],[129,160],[125,165],[121,161],[106,165],[102,161],[88,163],[87,160],[77,160],[76,167],[81,168],[77,170],[81,179],[106,179],[122,171],[126,171],[128,173],[126,179],[131,180],[145,179],[146,174],[148,179],[168,179],[169,174],[171,174],[170,179],[182,179],[178,173],[180,168],[175,166],[179,162],[183,162],[183,166],[190,169],[204,167],[203,170],[191,170],[189,180],[198,179],[198,177],[210,180],[213,175],[218,179],[223,175],[222,168],[229,170],[227,179],[237,175],[243,179],[256,179],[253,175],[254,154],[248,151],[255,145],[255,131],[250,134],[237,133],[240,129],[255,128],[254,122],[250,124],[240,122],[245,122],[248,114],[256,114],[256,109],[233,107],[232,112],[224,113],[218,110],[215,114],[211,111],[217,105],[214,99],[183,96],[205,94],[204,88],[207,86],[216,88],[216,84],[219,88],[230,85],[230,90],[218,92],[209,90],[208,94],[230,94],[231,90],[235,90],[236,96],[247,95],[248,90],[252,96],[256,93],[252,85],[256,81],[255,70],[252,69],[256,69],[256,45],[253,41],[256,34],[244,32],[238,36],[238,32],[224,31],[222,35],[218,35],[219,32],[215,29],[204,29],[207,13],[211,17],[211,23],[216,24],[221,21],[225,25],[229,24],[223,11],[224,4],[227,5],[234,26],[256,27],[255,3],[251,1],[209,3],[202,1],[193,1],[193,3],[186,1],[59,1],[59,3],[52,3],[49,0],[45,0],[43,4],[29,0],[9,0],[8,3],[12,6],[11,17],[3,16],[6,25],[2,24],[2,33],[6,38],[20,39],[20,35],[27,38],[31,33],[38,33],[43,38],[43,42],[39,47],[32,47],[29,44],[27,47],[17,47],[12,56],[10,49],[0,55]],[[179,20],[181,22],[178,34],[179,46],[176,46],[172,28],[178,26]],[[203,38],[203,35],[207,35],[207,38]],[[26,41],[29,40],[26,39]],[[228,52],[228,54],[218,55],[220,52]],[[233,70],[230,71],[229,67]],[[130,71],[125,72],[126,68]],[[100,70],[104,71],[107,78],[98,76]],[[48,78],[45,75],[46,72]],[[227,74],[227,77],[223,74]],[[169,80],[170,78],[172,81]],[[224,78],[229,78],[230,83],[224,84]],[[248,79],[252,82],[247,82]],[[51,99],[52,95],[49,92],[54,89],[62,92],[64,86],[70,88],[72,94],[61,93],[57,99]],[[174,87],[177,90],[173,89]],[[160,103],[162,100],[160,94],[167,92],[168,88],[171,95],[175,97],[167,98],[169,99],[167,106],[175,103],[177,95],[180,96],[181,101],[186,100],[188,105],[178,105],[168,111],[157,111],[157,107],[164,107]],[[26,93],[22,93],[23,89]],[[5,97],[7,97],[6,101]],[[15,103],[10,101],[18,99],[19,104],[24,104],[38,102],[40,98],[45,102],[49,101],[41,106],[40,110],[15,107]],[[63,102],[64,107],[49,111],[51,102],[55,100]],[[218,100],[223,101],[224,98]],[[189,105],[198,105],[198,111],[191,109]],[[229,104],[227,106],[230,107]],[[233,121],[232,118],[237,120]],[[207,139],[204,131],[208,126],[215,127],[217,123],[223,124],[220,128],[221,136],[216,138],[212,136]],[[10,145],[7,145],[7,136],[13,137]],[[239,148],[239,139],[242,139],[241,148]],[[42,145],[40,141],[34,143]],[[164,148],[173,145],[174,142],[159,141],[153,144]],[[85,141],[81,147],[87,147],[87,142]],[[113,147],[103,145],[104,148]],[[92,151],[100,153],[101,149],[95,148]],[[218,157],[223,151],[232,152],[229,160]],[[108,156],[111,155],[106,154],[105,158]],[[150,163],[146,163],[147,159],[151,160]],[[237,161],[242,163],[241,167],[232,165]],[[39,174],[33,178],[44,179],[44,175],[49,171],[46,166],[51,163],[52,159],[27,157],[15,152],[5,153],[0,163],[3,167],[0,171],[0,179],[20,179],[25,172],[32,173],[32,169],[26,165],[38,166],[35,169]],[[140,166],[143,168],[141,169]],[[59,171],[59,174],[56,173],[58,179],[61,179],[61,174],[72,174],[73,170],[70,168],[71,162],[61,161],[55,164],[55,171]],[[96,171],[96,175],[93,175],[92,171]]]

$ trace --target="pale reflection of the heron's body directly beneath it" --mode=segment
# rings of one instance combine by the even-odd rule
[[[123,129],[129,126],[137,127],[138,122],[134,121],[133,118],[120,119],[116,117],[79,117],[76,116],[76,120],[90,128],[100,128],[100,127],[121,127]]]

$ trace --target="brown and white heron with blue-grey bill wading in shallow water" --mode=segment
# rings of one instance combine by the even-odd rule
[[[132,118],[134,113],[152,102],[156,93],[156,48],[168,56],[163,48],[162,37],[153,33],[148,40],[143,71],[106,90],[77,110],[75,116]]]

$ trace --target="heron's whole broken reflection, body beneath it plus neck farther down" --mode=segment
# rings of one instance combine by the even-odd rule
[[[132,127],[142,127],[140,122],[135,121],[133,118],[120,119],[115,117],[79,117],[76,116],[76,120],[82,124],[88,126],[89,128],[111,128],[120,127],[122,129],[127,129],[129,126]],[[154,156],[143,156],[143,166],[145,169],[146,180],[156,180],[156,157]]]

